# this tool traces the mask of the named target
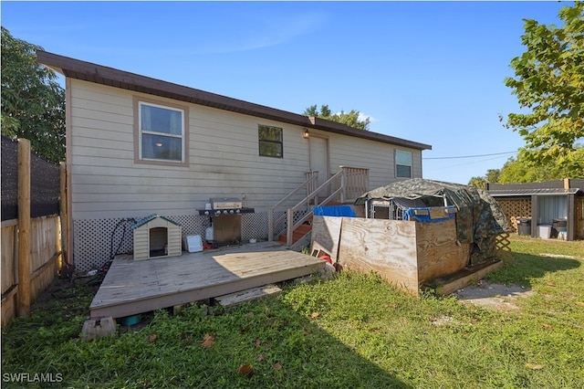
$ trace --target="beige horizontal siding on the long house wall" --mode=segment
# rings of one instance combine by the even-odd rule
[[[245,206],[266,212],[305,180],[309,164],[303,127],[77,79],[69,79],[69,85],[74,219],[195,215],[209,197],[218,196],[245,196]],[[136,163],[134,97],[188,108],[188,166]],[[258,124],[283,129],[283,158],[259,156]],[[340,165],[369,168],[370,189],[396,180],[391,145],[310,132],[328,139],[330,173]],[[410,151],[413,176],[419,177],[422,153]]]

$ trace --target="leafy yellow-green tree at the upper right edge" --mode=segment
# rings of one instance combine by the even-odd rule
[[[563,26],[525,20],[526,52],[511,60],[515,78],[505,79],[523,111],[509,113],[506,127],[526,141],[521,160],[558,161],[561,174],[569,177],[584,170],[575,147],[584,137],[584,4],[563,7],[558,17]]]

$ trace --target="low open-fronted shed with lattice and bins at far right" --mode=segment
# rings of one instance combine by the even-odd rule
[[[584,239],[584,180],[487,184],[519,235]]]

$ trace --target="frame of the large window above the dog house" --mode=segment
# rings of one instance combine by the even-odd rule
[[[149,106],[160,108],[162,110],[172,110],[181,113],[181,133],[172,134],[158,131],[144,131],[142,130],[142,107]],[[143,100],[140,98],[134,99],[134,123],[135,123],[135,142],[137,143],[135,152],[135,161],[137,163],[156,163],[156,164],[170,164],[170,165],[188,165],[187,145],[188,145],[188,110],[186,107],[172,106],[171,104],[153,102]],[[162,159],[162,158],[146,158],[143,155],[142,135],[150,134],[162,136],[165,138],[180,139],[181,140],[181,160]]]

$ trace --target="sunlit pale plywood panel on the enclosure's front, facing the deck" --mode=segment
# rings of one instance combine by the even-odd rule
[[[415,222],[343,217],[339,263],[418,294]]]

